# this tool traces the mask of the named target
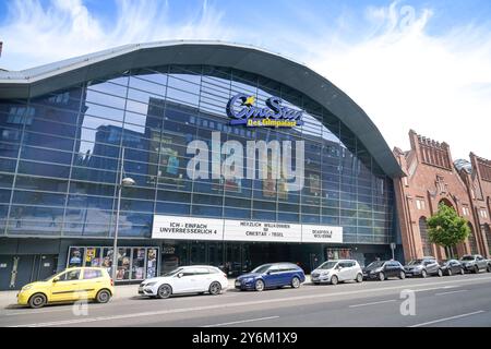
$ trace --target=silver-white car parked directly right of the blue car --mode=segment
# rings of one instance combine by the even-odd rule
[[[337,285],[337,282],[356,280],[357,282],[363,281],[363,270],[357,261],[352,260],[339,260],[327,261],[322,263],[310,275],[311,280],[315,285],[322,282],[330,282]]]

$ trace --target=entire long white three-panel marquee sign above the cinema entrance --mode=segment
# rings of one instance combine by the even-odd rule
[[[153,239],[340,243],[343,228],[278,221],[154,216]]]

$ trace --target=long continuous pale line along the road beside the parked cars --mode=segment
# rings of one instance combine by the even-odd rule
[[[465,280],[466,284],[471,281],[482,281],[490,280],[491,277],[487,278],[472,278]],[[463,280],[464,281],[464,280]],[[347,294],[366,294],[368,292],[379,292],[379,291],[387,291],[387,290],[398,290],[398,289],[408,289],[415,288],[418,286],[430,286],[430,285],[443,285],[443,284],[456,284],[455,280],[452,281],[442,281],[442,282],[433,282],[433,284],[418,284],[418,285],[404,285],[396,287],[383,287],[376,289],[362,289],[358,291],[348,291],[348,292],[334,292],[334,293],[322,293],[322,294],[307,294],[307,296],[298,296],[298,297],[285,297],[277,299],[267,299],[262,301],[250,301],[250,302],[237,302],[237,303],[228,303],[228,304],[215,304],[215,305],[206,305],[206,306],[195,306],[195,308],[181,308],[173,310],[165,310],[165,311],[154,311],[154,312],[143,312],[143,313],[130,313],[130,314],[121,314],[121,315],[112,315],[112,316],[99,316],[99,317],[84,317],[84,318],[74,318],[74,320],[65,320],[58,322],[49,322],[49,323],[34,323],[34,324],[25,324],[25,325],[14,325],[10,327],[43,327],[43,326],[61,326],[67,324],[76,324],[76,323],[88,323],[88,322],[98,322],[98,321],[111,321],[111,320],[122,320],[130,317],[142,317],[142,316],[153,316],[153,315],[163,315],[163,314],[173,314],[173,313],[183,313],[183,312],[193,312],[193,311],[203,311],[203,310],[213,310],[213,309],[224,309],[224,308],[236,308],[236,306],[248,306],[248,305],[260,305],[260,304],[271,304],[271,303],[280,303],[280,302],[291,302],[291,301],[300,301],[300,300],[311,300],[318,298],[327,298],[327,297],[337,297],[337,296],[347,296]],[[451,286],[434,288],[450,288]],[[431,289],[431,290],[434,290]],[[430,290],[430,289],[424,289]],[[415,290],[416,292],[422,290]],[[32,313],[27,313],[27,315],[32,315]]]

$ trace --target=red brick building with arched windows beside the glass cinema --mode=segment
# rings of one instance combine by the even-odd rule
[[[440,203],[468,220],[469,239],[454,249],[490,255],[491,161],[470,153],[470,163],[452,159],[450,146],[409,132],[410,151],[394,149],[407,177],[395,179],[394,189],[406,261],[433,255],[445,258],[443,248],[431,244],[426,219]]]

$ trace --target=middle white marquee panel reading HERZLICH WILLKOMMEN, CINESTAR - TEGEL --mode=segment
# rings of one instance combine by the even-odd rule
[[[225,241],[300,242],[301,234],[300,225],[225,219]]]

